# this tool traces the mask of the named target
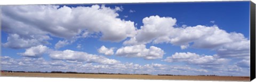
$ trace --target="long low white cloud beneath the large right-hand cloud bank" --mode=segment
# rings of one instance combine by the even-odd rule
[[[163,61],[166,62],[187,62],[194,65],[222,65],[227,63],[229,60],[219,58],[216,54],[213,56],[199,55],[190,52],[176,52],[171,57],[166,57]]]

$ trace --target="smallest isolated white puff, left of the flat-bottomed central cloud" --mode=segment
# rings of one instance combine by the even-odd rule
[[[114,49],[115,48],[106,48],[104,45],[102,45],[99,49],[98,49],[98,52],[99,53],[103,53],[103,54],[106,54],[107,56],[111,56],[114,54]]]

